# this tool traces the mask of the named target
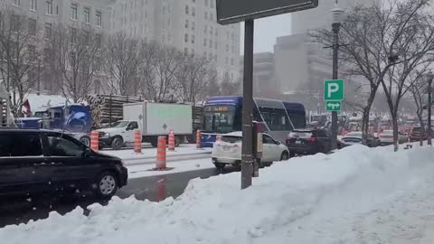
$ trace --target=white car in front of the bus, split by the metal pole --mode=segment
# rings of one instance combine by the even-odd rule
[[[226,164],[241,163],[242,132],[225,134],[216,141],[212,147],[212,163],[216,168],[222,169]],[[263,134],[263,152],[261,164],[288,160],[289,152],[286,145],[282,145],[273,137]]]

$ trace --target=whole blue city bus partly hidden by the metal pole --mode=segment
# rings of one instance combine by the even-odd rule
[[[294,128],[306,127],[303,104],[272,99],[254,99],[253,120],[261,122],[266,133],[285,143]],[[212,147],[216,136],[242,130],[242,97],[219,96],[206,100],[203,107],[201,145]]]

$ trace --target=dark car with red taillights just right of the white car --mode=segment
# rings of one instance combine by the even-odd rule
[[[289,156],[327,154],[332,148],[332,138],[325,129],[296,129],[287,138]],[[341,143],[337,142],[337,148]]]

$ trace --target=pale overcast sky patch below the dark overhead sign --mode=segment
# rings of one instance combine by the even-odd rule
[[[255,20],[254,52],[273,52],[276,37],[291,33],[290,14]],[[241,55],[244,52],[244,23],[241,23]]]

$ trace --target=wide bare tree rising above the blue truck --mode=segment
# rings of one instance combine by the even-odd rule
[[[89,26],[78,28],[59,24],[47,41],[52,70],[58,74],[58,85],[66,98],[79,102],[90,92],[94,77],[101,67],[101,38]]]

